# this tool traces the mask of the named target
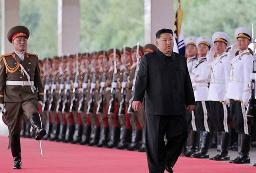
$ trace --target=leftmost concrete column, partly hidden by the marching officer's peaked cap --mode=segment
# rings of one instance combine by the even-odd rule
[[[7,33],[17,25],[19,25],[19,0],[2,0],[2,54],[13,52],[14,48],[7,40]]]

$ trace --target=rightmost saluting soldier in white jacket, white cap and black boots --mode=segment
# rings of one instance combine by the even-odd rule
[[[233,47],[237,47],[239,54],[234,55],[235,57],[230,61],[226,97],[230,98],[230,111],[233,115],[232,121],[238,133],[238,157],[231,160],[230,163],[248,164],[250,163],[251,136],[246,108],[251,96],[249,82],[253,56],[248,50],[251,42],[251,30],[245,27],[237,28],[235,30],[235,37],[237,38],[237,43]]]

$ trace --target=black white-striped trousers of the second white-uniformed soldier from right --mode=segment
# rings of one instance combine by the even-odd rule
[[[219,101],[209,101],[211,110],[211,120],[214,131],[229,131],[230,111],[228,105],[223,105]]]

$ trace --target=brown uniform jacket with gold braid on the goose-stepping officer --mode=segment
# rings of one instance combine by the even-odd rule
[[[6,81],[28,81],[27,76],[21,73],[21,68],[17,62],[26,69],[30,80],[34,81],[34,86],[39,92],[32,92],[30,86],[6,85]],[[12,69],[13,70],[10,70]],[[40,77],[38,56],[36,54],[25,53],[24,60],[21,61],[17,54],[10,53],[1,56],[0,59],[0,103],[22,102],[33,98],[43,102],[44,89]]]

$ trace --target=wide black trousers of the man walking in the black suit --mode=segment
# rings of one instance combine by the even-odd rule
[[[174,166],[187,140],[185,115],[146,115],[146,152],[149,173],[163,173]],[[164,136],[168,140],[164,143]]]

